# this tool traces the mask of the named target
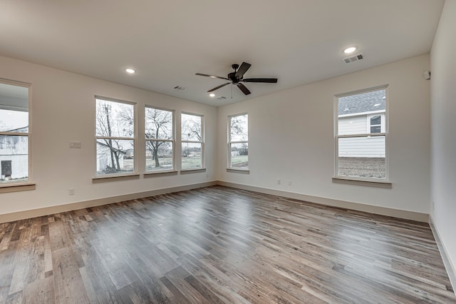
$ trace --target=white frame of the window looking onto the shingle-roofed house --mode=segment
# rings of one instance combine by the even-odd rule
[[[338,100],[341,97],[357,95],[361,93],[369,93],[373,91],[385,90],[385,111],[372,111],[366,113],[358,114],[367,114],[366,119],[366,133],[356,133],[356,134],[344,134],[338,135]],[[348,180],[348,181],[366,181],[366,186],[369,184],[373,185],[375,183],[388,183],[390,184],[390,175],[389,175],[389,149],[388,149],[388,137],[389,137],[389,98],[388,98],[388,84],[382,86],[375,86],[371,88],[364,88],[357,91],[350,91],[347,93],[341,93],[334,95],[334,105],[333,105],[333,126],[334,126],[334,177],[333,181],[336,179],[339,180]],[[371,118],[373,116],[380,115],[380,133],[371,133]],[[377,125],[374,125],[377,126]],[[339,153],[339,138],[360,138],[360,137],[382,137],[385,138],[385,178],[365,178],[362,176],[341,176],[338,174],[338,153]]]

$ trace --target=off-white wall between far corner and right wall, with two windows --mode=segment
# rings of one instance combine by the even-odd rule
[[[417,56],[220,107],[219,180],[428,213],[430,81],[425,81],[423,71],[429,66],[428,55]],[[384,84],[389,84],[389,168],[393,188],[332,183],[333,96]],[[227,116],[245,112],[249,113],[250,174],[227,172]],[[278,178],[281,185],[276,184]]]

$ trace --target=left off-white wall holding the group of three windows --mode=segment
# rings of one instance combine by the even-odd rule
[[[32,83],[31,174],[36,183],[35,191],[1,193],[0,215],[215,180],[217,108],[1,56],[0,66],[0,78]],[[134,101],[142,115],[145,104],[174,109],[177,116],[180,111],[204,115],[207,172],[92,183],[95,95]],[[139,123],[144,121],[139,118]],[[140,158],[144,140],[138,135]],[[69,141],[81,141],[82,148],[70,149]],[[143,162],[138,163],[143,168]],[[75,188],[76,195],[69,196],[69,188]]]

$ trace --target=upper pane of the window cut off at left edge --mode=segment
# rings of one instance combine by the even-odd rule
[[[0,132],[28,132],[28,88],[0,83]]]

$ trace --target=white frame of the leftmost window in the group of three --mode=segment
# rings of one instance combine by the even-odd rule
[[[120,137],[120,136],[97,136],[97,130],[96,130],[96,119],[97,119],[97,113],[96,113],[96,107],[97,107],[97,101],[109,101],[109,102],[115,102],[115,103],[123,103],[127,104],[130,106],[133,106],[133,137]],[[117,98],[110,98],[110,97],[105,97],[105,96],[98,96],[95,95],[95,116],[94,116],[94,133],[95,133],[95,178],[93,180],[97,179],[109,179],[109,178],[116,178],[116,177],[125,177],[125,176],[137,176],[138,175],[138,103],[135,103],[133,101],[124,101],[121,99]],[[133,141],[133,167],[134,170],[133,172],[121,172],[121,173],[106,173],[106,174],[98,174],[97,171],[97,157],[98,157],[98,150],[97,150],[97,144],[98,144],[98,139],[118,139],[121,141]]]

